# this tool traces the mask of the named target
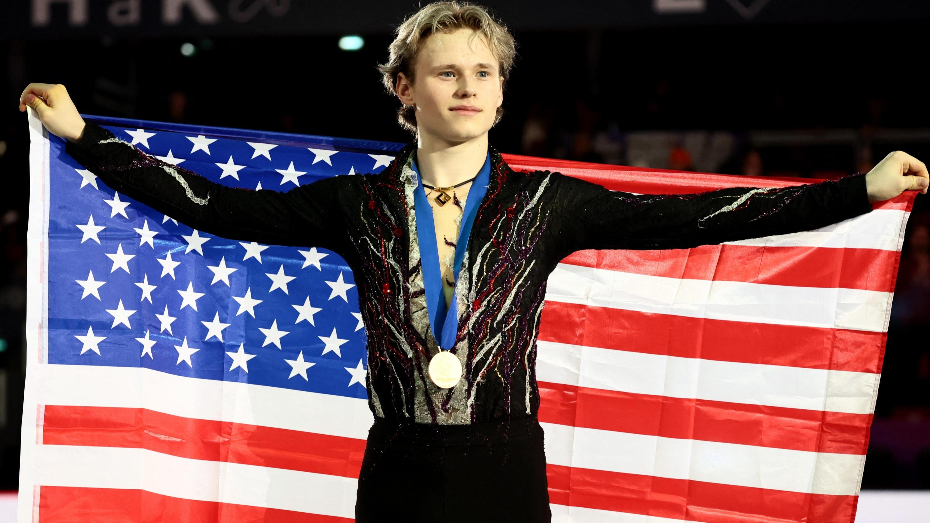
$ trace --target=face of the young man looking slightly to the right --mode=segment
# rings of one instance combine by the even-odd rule
[[[504,101],[498,60],[481,35],[472,29],[434,33],[420,43],[414,63],[415,84],[405,74],[397,81],[397,96],[416,111],[420,140],[452,145],[485,135]],[[454,110],[467,105],[477,111]]]

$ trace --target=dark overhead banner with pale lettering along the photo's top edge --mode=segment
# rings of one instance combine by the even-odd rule
[[[746,23],[926,20],[919,0],[555,0],[483,4],[516,31]],[[21,0],[7,2],[0,39],[163,36],[390,34],[420,4],[398,0]]]

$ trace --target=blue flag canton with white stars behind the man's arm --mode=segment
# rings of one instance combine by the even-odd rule
[[[234,187],[287,191],[356,168],[377,172],[392,159],[339,151],[338,139],[243,131],[254,141],[234,140],[208,137],[204,127],[148,123],[103,127]],[[298,139],[325,145],[301,147]],[[352,272],[338,254],[207,235],[114,192],[63,146],[58,154],[63,161],[50,170],[48,363],[367,397],[365,327]]]

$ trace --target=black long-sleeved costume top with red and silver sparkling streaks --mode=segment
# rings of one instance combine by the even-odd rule
[[[467,424],[537,414],[537,334],[547,279],[579,249],[692,248],[816,229],[869,212],[865,174],[784,188],[630,194],[558,172],[491,176],[456,282],[462,363],[455,387],[429,379],[437,352],[420,270],[410,168],[416,141],[378,174],[287,192],[208,181],[86,122],[66,152],[120,193],[229,239],[320,247],[352,268],[367,334],[368,404],[401,422]]]

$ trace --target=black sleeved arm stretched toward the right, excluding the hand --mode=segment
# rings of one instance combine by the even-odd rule
[[[587,248],[692,248],[808,231],[872,209],[865,174],[782,188],[631,194],[552,173],[561,253]]]

